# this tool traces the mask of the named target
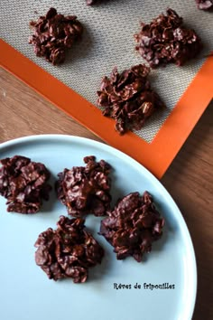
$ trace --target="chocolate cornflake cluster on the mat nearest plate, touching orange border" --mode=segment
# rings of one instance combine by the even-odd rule
[[[147,76],[150,69],[139,64],[118,73],[114,68],[110,77],[104,77],[97,91],[97,105],[102,113],[116,120],[116,131],[139,130],[147,118],[164,107],[159,95],[151,89]]]

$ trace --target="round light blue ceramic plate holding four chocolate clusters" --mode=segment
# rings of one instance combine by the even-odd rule
[[[176,204],[162,184],[134,159],[96,141],[77,136],[28,136],[0,145],[0,158],[25,155],[51,171],[51,183],[65,167],[84,165],[95,155],[113,167],[113,202],[127,193],[147,190],[165,219],[162,239],[143,262],[116,260],[113,248],[99,236],[100,220],[86,226],[105,249],[101,265],[90,268],[88,281],[53,281],[34,262],[40,232],[55,228],[66,208],[54,191],[42,212],[6,212],[0,197],[0,319],[3,320],[190,320],[197,272],[190,234]],[[186,303],[187,301],[187,303]]]

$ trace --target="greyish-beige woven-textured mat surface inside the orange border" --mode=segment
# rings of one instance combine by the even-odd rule
[[[77,15],[84,25],[82,41],[73,46],[66,62],[57,67],[36,57],[32,45],[28,44],[28,37],[32,34],[29,22],[46,14],[51,6],[61,14]],[[115,66],[118,71],[123,71],[144,62],[134,51],[134,33],[139,32],[140,22],[150,23],[153,18],[165,13],[168,7],[181,15],[187,26],[195,29],[204,49],[197,59],[183,67],[169,65],[152,71],[152,86],[167,108],[153,115],[142,130],[135,132],[150,143],[199,71],[203,57],[212,51],[213,13],[200,11],[194,0],[103,0],[102,4],[94,6],[86,5],[85,0],[1,0],[0,36],[52,76],[97,105],[96,92],[104,75],[109,75]]]

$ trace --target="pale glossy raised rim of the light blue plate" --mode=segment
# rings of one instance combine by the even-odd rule
[[[171,197],[171,194],[167,191],[167,189],[164,187],[164,185],[156,178],[147,168],[144,167],[144,165],[140,164],[138,161],[134,160],[133,157],[130,155],[126,155],[123,151],[120,151],[116,149],[114,146],[106,145],[104,142],[99,142],[97,140],[93,140],[92,138],[84,137],[84,136],[72,136],[72,135],[65,135],[65,134],[39,134],[39,135],[30,135],[30,136],[20,136],[16,137],[14,139],[7,140],[0,144],[0,151],[3,148],[16,146],[17,144],[23,144],[23,143],[29,143],[29,142],[38,142],[38,140],[50,140],[54,141],[56,139],[63,140],[69,143],[72,142],[80,142],[80,143],[86,143],[90,146],[97,146],[98,149],[106,150],[106,152],[113,153],[121,157],[123,160],[125,160],[127,163],[130,163],[136,168],[143,168],[144,173],[148,175],[148,178],[152,180],[152,183],[156,184],[156,186],[159,188],[161,187],[163,189],[163,192],[167,196],[167,200],[170,201],[172,207],[175,208],[176,212],[179,214],[179,219],[181,221],[181,231],[183,231],[184,236],[187,238],[188,242],[188,248],[190,249],[190,266],[192,266],[192,269],[190,269],[190,277],[193,278],[193,281],[191,281],[191,289],[190,289],[190,306],[188,306],[185,309],[184,316],[187,315],[184,320],[191,320],[195,305],[196,305],[196,299],[197,299],[197,291],[198,291],[198,269],[197,269],[197,261],[196,261],[196,254],[195,249],[193,246],[193,242],[190,236],[190,231],[188,229],[188,225],[181,213],[181,210],[179,209],[177,203],[173,200]]]

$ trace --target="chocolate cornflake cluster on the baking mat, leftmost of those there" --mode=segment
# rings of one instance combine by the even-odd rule
[[[57,14],[55,8],[51,8],[45,16],[32,21],[30,25],[33,34],[29,43],[34,46],[35,54],[53,65],[65,61],[66,51],[80,39],[83,32],[76,15]]]

